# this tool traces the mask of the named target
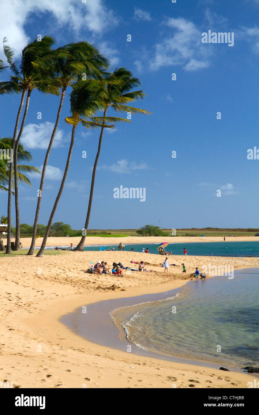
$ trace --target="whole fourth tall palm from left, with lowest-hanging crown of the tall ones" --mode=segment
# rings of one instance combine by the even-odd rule
[[[36,256],[43,256],[44,248],[46,246],[49,230],[52,224],[52,220],[54,214],[57,209],[57,205],[59,203],[59,199],[62,195],[62,191],[64,188],[64,183],[67,178],[67,172],[69,169],[73,144],[74,144],[74,135],[76,131],[76,127],[81,122],[84,127],[87,128],[97,128],[97,127],[109,127],[113,128],[113,125],[101,125],[99,122],[96,122],[94,114],[96,111],[101,110],[103,108],[103,96],[104,96],[104,85],[102,85],[99,81],[94,79],[86,80],[86,81],[78,81],[76,84],[73,85],[72,93],[70,94],[70,107],[71,107],[71,117],[66,117],[65,121],[72,125],[72,134],[71,134],[71,142],[67,157],[67,164],[64,171],[64,176],[62,178],[62,182],[59,188],[59,192],[57,198],[55,200],[51,215],[49,217],[49,222],[47,224],[47,228],[44,234],[44,238],[42,241],[42,245],[40,247],[39,252]],[[113,122],[113,117],[99,117],[101,122]]]

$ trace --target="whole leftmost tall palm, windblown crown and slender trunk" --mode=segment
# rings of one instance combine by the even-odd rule
[[[45,36],[44,38],[42,38],[42,41],[37,41],[37,39],[35,39],[35,41],[29,43],[23,50],[22,50],[22,56],[21,56],[21,61],[20,61],[20,65],[18,66],[17,61],[15,61],[13,59],[14,56],[14,52],[10,49],[9,46],[7,46],[6,43],[6,38],[4,39],[4,53],[5,56],[7,58],[7,62],[9,64],[10,69],[12,70],[12,72],[14,73],[14,75],[11,76],[11,81],[9,82],[2,82],[1,83],[1,88],[12,88],[13,83],[15,83],[15,85],[17,86],[17,90],[19,92],[22,92],[22,97],[21,97],[21,102],[20,102],[20,107],[17,113],[17,117],[16,117],[16,123],[15,123],[15,130],[14,130],[14,134],[13,134],[13,139],[12,139],[12,154],[14,155],[14,164],[15,164],[15,177],[17,178],[17,168],[16,168],[16,164],[17,164],[17,146],[15,147],[16,144],[16,136],[17,136],[17,130],[18,130],[18,125],[19,125],[19,120],[20,120],[20,115],[22,112],[22,107],[23,107],[23,103],[25,100],[25,94],[28,91],[27,94],[27,103],[26,103],[26,107],[25,107],[25,114],[23,117],[23,122],[20,128],[20,134],[19,136],[21,136],[22,134],[22,129],[24,126],[24,122],[25,122],[25,118],[27,115],[27,109],[28,109],[28,105],[29,105],[29,100],[30,100],[30,94],[33,88],[37,88],[38,90],[42,90],[44,92],[46,92],[46,79],[42,80],[42,74],[41,76],[39,76],[39,70],[35,70],[32,61],[35,59],[39,59],[39,57],[42,57],[46,54],[50,53],[50,47],[52,46],[52,44],[54,44],[54,40],[51,37],[47,37]],[[57,90],[58,93],[58,90]],[[20,137],[19,137],[20,139]],[[7,228],[7,248],[6,248],[6,254],[10,254],[11,253],[11,227],[10,227],[10,219],[11,219],[11,198],[12,198],[12,174],[13,174],[13,161],[10,162],[10,169],[9,169],[9,183],[8,183],[8,205],[7,205],[7,217],[8,217],[8,228]],[[19,229],[20,227],[16,226],[16,229]],[[17,241],[17,243],[19,242],[19,247],[20,247],[20,241]]]

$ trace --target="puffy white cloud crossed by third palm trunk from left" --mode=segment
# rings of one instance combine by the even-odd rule
[[[24,127],[21,142],[27,149],[47,149],[54,128],[53,122],[42,122],[41,124],[28,124]],[[52,144],[53,148],[62,146],[63,131],[57,129]]]

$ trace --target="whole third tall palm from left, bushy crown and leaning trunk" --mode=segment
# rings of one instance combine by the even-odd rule
[[[35,63],[37,64],[37,63]],[[42,62],[39,64],[42,65]],[[103,56],[100,55],[99,51],[88,42],[77,42],[75,44],[67,44],[62,46],[61,48],[57,49],[56,56],[54,59],[54,70],[56,72],[56,76],[59,78],[62,84],[62,93],[59,103],[59,109],[57,112],[56,123],[54,125],[54,129],[52,135],[50,137],[49,146],[47,149],[47,153],[45,156],[43,168],[42,168],[42,176],[39,185],[39,197],[37,200],[37,207],[35,212],[35,220],[33,225],[33,232],[32,232],[32,242],[30,249],[27,255],[34,254],[35,248],[35,239],[37,234],[37,223],[39,218],[39,209],[42,200],[42,190],[44,184],[44,178],[47,168],[47,163],[49,159],[49,153],[52,148],[52,143],[57,131],[57,127],[59,124],[59,117],[63,105],[63,100],[65,96],[65,92],[68,86],[72,86],[82,74],[88,76],[89,78],[101,75],[102,68],[108,67],[108,61]]]

